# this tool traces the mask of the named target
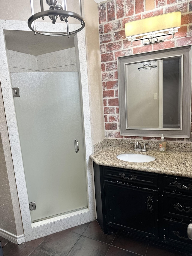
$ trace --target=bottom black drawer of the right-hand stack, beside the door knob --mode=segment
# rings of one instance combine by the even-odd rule
[[[173,242],[177,242],[179,244],[188,244],[192,246],[192,240],[190,240],[187,236],[188,224],[183,224],[175,221],[166,221],[166,233],[164,236],[166,242],[172,244]]]

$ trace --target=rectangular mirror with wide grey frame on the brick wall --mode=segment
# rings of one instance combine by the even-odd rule
[[[118,57],[120,134],[190,138],[191,45]]]

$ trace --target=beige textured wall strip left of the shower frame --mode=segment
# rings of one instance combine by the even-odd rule
[[[23,228],[1,89],[0,120],[0,229],[19,236]]]

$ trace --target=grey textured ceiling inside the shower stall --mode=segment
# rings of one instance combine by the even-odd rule
[[[74,36],[51,37],[34,35],[32,31],[4,30],[7,50],[41,55],[75,47]]]

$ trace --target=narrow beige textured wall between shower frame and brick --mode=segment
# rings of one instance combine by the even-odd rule
[[[94,0],[83,0],[92,145],[105,138],[98,9]]]

